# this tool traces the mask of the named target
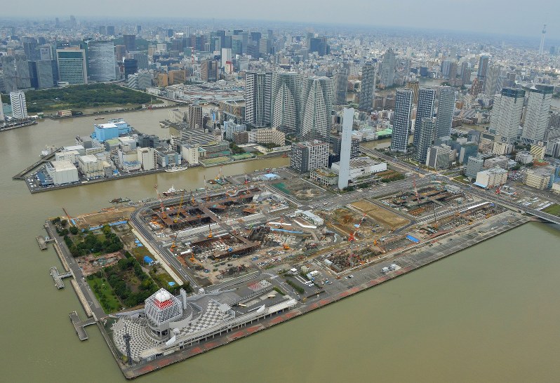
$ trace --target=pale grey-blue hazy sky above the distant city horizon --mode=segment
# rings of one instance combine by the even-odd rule
[[[1,16],[66,19],[181,17],[359,23],[560,38],[560,0],[23,0],[3,1]],[[42,17],[41,17],[42,16]]]

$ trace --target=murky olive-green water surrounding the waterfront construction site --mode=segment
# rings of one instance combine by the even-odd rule
[[[168,110],[118,114],[145,133]],[[123,382],[94,326],[80,342],[69,321],[85,313],[72,288],[57,290],[52,246],[39,250],[46,217],[100,210],[167,189],[200,187],[217,168],[189,169],[31,195],[11,176],[45,145],[72,145],[93,118],[41,121],[0,133],[0,370],[6,382]],[[274,168],[289,159],[224,166],[226,175]],[[325,309],[275,326],[141,382],[555,381],[560,373],[560,231],[526,224]]]

